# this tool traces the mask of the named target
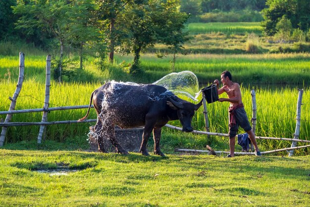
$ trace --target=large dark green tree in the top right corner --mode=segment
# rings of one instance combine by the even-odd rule
[[[273,36],[277,33],[276,25],[282,16],[286,16],[293,28],[303,31],[309,29],[310,3],[309,0],[267,0],[267,8],[262,10],[264,33]]]

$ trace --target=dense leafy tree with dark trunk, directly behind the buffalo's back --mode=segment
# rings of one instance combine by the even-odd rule
[[[180,48],[187,41],[183,32],[188,15],[180,12],[179,0],[149,0],[144,4],[130,4],[123,16],[128,25],[128,37],[123,40],[122,52],[134,53],[131,73],[139,70],[140,53],[155,43]]]

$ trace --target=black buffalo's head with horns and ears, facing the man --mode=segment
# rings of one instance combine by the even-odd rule
[[[193,104],[185,100],[181,100],[180,102],[176,102],[171,98],[168,98],[167,105],[174,110],[177,110],[178,118],[182,124],[183,132],[193,132],[192,128],[192,119],[195,114],[195,111],[199,109],[202,105],[203,100],[201,100],[198,104]]]

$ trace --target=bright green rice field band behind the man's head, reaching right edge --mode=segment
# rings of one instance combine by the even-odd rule
[[[154,82],[171,70],[171,57],[154,60],[151,55],[142,56],[142,67],[149,74],[154,73]],[[187,55],[179,56],[175,70],[193,71],[201,84],[218,79],[220,73],[229,70],[234,81],[245,84],[310,84],[309,54],[291,55]],[[156,75],[158,74],[158,76]]]

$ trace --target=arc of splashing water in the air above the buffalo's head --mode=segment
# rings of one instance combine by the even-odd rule
[[[185,95],[194,101],[200,94],[197,76],[192,71],[169,73],[153,84],[161,85],[172,91],[175,95]]]

